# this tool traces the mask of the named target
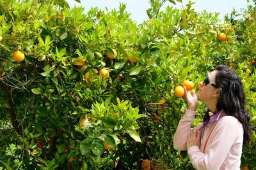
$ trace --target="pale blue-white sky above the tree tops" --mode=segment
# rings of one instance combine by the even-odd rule
[[[119,3],[126,4],[126,11],[131,13],[132,20],[135,20],[137,24],[141,24],[143,20],[148,20],[147,9],[150,8],[149,0],[81,0],[81,3],[77,3],[75,0],[66,0],[70,5],[70,8],[76,6],[83,6],[84,12],[90,10],[91,7],[98,7],[101,10],[105,10],[105,7],[108,8],[108,11],[112,9],[118,10]],[[186,6],[189,0],[182,0],[182,3],[177,2],[177,5],[174,5],[167,1],[164,6],[170,5],[177,8],[181,6]],[[175,1],[176,2],[176,1]],[[211,12],[220,13],[219,18],[223,19],[225,14],[230,14],[233,8],[236,11],[239,11],[241,8],[246,8],[248,5],[247,0],[191,0],[195,2],[192,8],[195,11],[207,10]],[[164,7],[162,7],[164,9]],[[162,9],[162,10],[163,10]]]

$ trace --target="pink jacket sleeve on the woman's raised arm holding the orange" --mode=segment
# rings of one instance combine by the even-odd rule
[[[196,111],[186,110],[180,119],[179,125],[173,136],[173,148],[175,150],[187,150],[187,138],[191,129],[191,124],[195,120]],[[199,127],[196,127],[197,129]]]

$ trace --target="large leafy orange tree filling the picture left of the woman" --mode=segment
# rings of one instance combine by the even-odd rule
[[[153,169],[191,168],[186,152],[172,147],[186,109],[173,90],[184,80],[196,90],[217,64],[243,78],[255,127],[255,56],[246,50],[254,49],[255,22],[239,19],[234,29],[232,16],[220,23],[192,3],[173,8],[178,2],[163,11],[166,1],[151,0],[150,20],[137,25],[124,4],[84,14],[65,1],[0,1],[1,166],[141,169],[149,160]],[[253,157],[250,143],[242,163]]]

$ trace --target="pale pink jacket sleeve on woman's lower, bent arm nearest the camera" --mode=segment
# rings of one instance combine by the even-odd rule
[[[231,146],[236,141],[237,134],[243,135],[243,127],[239,125],[236,118],[226,116],[216,124],[205,153],[200,151],[198,146],[188,148],[189,159],[196,169],[220,169]],[[242,141],[243,142],[243,141]],[[203,144],[204,145],[204,144]]]

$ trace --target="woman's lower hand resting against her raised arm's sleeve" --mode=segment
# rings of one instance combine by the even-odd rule
[[[200,148],[201,135],[201,130],[195,131],[194,129],[191,129],[188,134],[187,148],[190,148],[191,146],[198,146]]]

